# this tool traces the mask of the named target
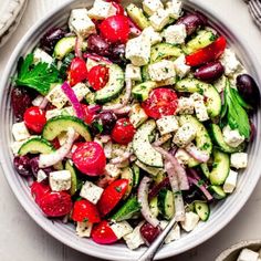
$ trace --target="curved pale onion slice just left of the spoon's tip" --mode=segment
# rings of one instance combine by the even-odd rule
[[[138,187],[138,202],[140,203],[142,207],[142,215],[143,217],[153,226],[157,227],[159,225],[159,220],[157,218],[153,217],[153,213],[149,209],[148,205],[148,187],[149,184],[152,182],[152,179],[148,177],[144,177],[139,184]]]

